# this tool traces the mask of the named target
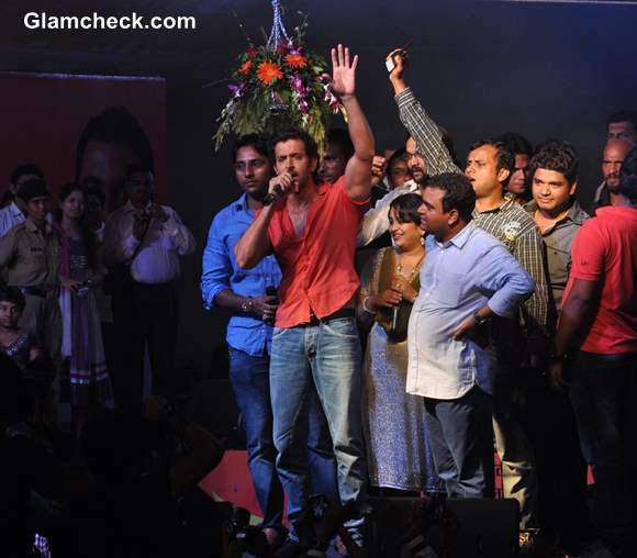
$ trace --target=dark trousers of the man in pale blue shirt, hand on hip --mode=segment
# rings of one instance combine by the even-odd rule
[[[492,398],[478,386],[459,399],[425,398],[436,472],[449,498],[492,498]]]

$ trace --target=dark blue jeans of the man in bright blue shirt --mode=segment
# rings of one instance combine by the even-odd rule
[[[281,528],[283,489],[276,469],[277,450],[272,440],[270,402],[270,359],[230,348],[230,379],[243,414],[248,466],[261,512],[262,527]],[[311,390],[308,413],[308,460],[311,490],[338,501],[336,461],[325,415]]]

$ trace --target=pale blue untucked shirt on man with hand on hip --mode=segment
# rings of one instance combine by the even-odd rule
[[[478,383],[492,393],[493,353],[451,336],[485,304],[499,316],[513,317],[534,289],[504,244],[472,224],[444,244],[428,236],[409,324],[406,391],[450,400]]]

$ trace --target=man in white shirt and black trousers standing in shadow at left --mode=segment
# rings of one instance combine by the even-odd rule
[[[115,401],[135,410],[142,401],[144,349],[148,345],[153,393],[171,394],[177,343],[179,257],[192,254],[194,238],[177,212],[153,202],[153,171],[132,165],[128,201],[107,220],[103,259],[127,265],[132,282],[113,294],[121,362],[113,370]]]

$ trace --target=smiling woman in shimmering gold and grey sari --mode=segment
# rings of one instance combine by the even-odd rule
[[[407,322],[425,258],[420,196],[395,198],[389,210],[392,246],[361,274],[357,315],[369,331],[364,366],[364,428],[373,487],[444,492],[425,426],[422,398],[405,392]],[[370,330],[371,327],[371,330]]]

